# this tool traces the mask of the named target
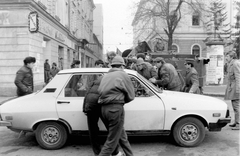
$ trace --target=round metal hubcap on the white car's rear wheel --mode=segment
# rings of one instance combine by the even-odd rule
[[[60,139],[60,134],[57,128],[47,127],[42,133],[43,141],[49,145],[56,144]]]

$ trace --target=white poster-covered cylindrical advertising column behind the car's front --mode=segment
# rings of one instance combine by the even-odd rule
[[[210,62],[206,66],[206,84],[223,83],[223,51],[223,45],[211,45],[207,47],[207,57],[210,59]]]

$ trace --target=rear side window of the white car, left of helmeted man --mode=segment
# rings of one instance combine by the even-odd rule
[[[65,97],[85,97],[92,82],[102,74],[73,75],[64,89]]]

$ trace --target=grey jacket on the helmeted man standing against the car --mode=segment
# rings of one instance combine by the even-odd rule
[[[100,104],[125,104],[135,98],[131,79],[119,68],[111,68],[103,76],[98,91]]]

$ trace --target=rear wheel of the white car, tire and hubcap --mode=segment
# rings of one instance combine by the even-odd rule
[[[65,127],[56,122],[40,123],[35,131],[35,136],[38,144],[48,150],[62,148],[68,138]]]

